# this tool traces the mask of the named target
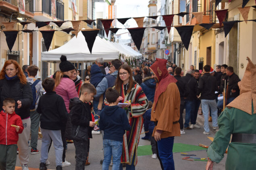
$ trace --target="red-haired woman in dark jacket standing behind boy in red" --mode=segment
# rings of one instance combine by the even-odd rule
[[[28,140],[30,135],[29,107],[33,102],[32,90],[27,82],[26,76],[15,60],[5,61],[4,67],[0,72],[0,110],[6,98],[13,98],[16,102],[15,113],[22,119],[24,130],[19,134],[18,148],[19,160],[22,170],[28,170]]]

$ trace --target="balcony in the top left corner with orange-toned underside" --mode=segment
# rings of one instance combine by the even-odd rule
[[[33,18],[34,0],[25,0],[25,14],[19,13],[18,0],[0,0],[1,13],[9,16]]]

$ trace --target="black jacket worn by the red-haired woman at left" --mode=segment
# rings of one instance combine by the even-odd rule
[[[29,107],[33,102],[32,90],[30,85],[21,84],[18,77],[11,80],[5,78],[0,80],[0,111],[2,111],[3,101],[6,98],[13,98],[15,100],[15,113],[25,119],[29,117]],[[21,101],[21,108],[17,108],[17,101]]]

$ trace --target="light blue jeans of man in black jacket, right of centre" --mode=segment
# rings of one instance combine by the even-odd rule
[[[209,129],[209,122],[208,122],[208,115],[209,115],[209,107],[212,111],[212,126],[217,127],[218,126],[218,110],[217,110],[217,103],[216,100],[204,100],[201,99],[202,104],[202,111],[204,115],[204,131],[210,132]]]

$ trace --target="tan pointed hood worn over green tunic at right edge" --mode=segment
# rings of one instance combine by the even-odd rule
[[[256,113],[256,65],[247,57],[248,64],[241,82],[238,82],[240,95],[227,107],[234,107],[252,115],[252,102],[254,114]]]

